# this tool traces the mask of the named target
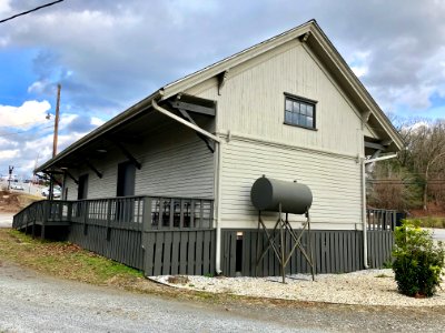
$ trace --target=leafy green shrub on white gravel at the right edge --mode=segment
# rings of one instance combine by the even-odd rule
[[[404,221],[394,236],[393,270],[398,291],[408,296],[433,296],[444,268],[443,244],[435,245],[431,233],[413,221]]]

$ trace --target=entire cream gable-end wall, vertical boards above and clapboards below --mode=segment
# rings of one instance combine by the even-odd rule
[[[221,158],[221,228],[257,226],[250,188],[266,174],[309,185],[314,229],[362,229],[357,158],[364,154],[364,135],[375,134],[362,127],[365,110],[355,108],[315,56],[295,40],[230,69],[220,95],[217,84],[208,80],[188,93],[217,100],[217,132],[228,141]],[[317,101],[316,130],[284,124],[285,92]],[[265,219],[273,223],[275,216]]]

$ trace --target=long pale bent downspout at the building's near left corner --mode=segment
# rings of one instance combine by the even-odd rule
[[[207,138],[211,139],[215,141],[216,145],[216,151],[217,151],[217,157],[216,157],[216,193],[217,198],[215,199],[216,201],[216,259],[215,259],[215,271],[219,275],[222,273],[221,271],[221,229],[220,229],[220,198],[221,198],[221,190],[220,190],[220,182],[219,182],[219,176],[220,176],[220,164],[221,164],[221,140],[211,134],[210,132],[207,132],[206,130],[192,124],[191,122],[188,122],[187,120],[184,120],[182,118],[171,113],[170,111],[164,109],[162,107],[159,107],[159,104],[154,100],[151,100],[151,105],[156,111],[159,111],[160,113],[176,120],[177,122],[180,122],[181,124],[195,130],[196,132],[201,133],[202,135],[206,135]]]

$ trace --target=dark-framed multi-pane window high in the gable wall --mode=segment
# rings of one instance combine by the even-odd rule
[[[316,101],[286,94],[285,123],[314,130],[316,103]]]

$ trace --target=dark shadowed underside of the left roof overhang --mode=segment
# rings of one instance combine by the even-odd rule
[[[180,118],[179,109],[182,112],[192,113],[194,118],[198,121],[200,120],[201,123],[207,123],[208,119],[215,118],[215,101],[186,94],[178,94],[169,100],[162,100],[161,97],[162,93],[158,91],[144,99],[79,139],[53,159],[38,167],[34,173],[65,171],[72,165],[88,164],[89,159],[97,159],[102,153],[109,152],[109,150],[116,149],[122,151],[125,150],[123,143],[139,144],[150,130],[171,124],[175,122],[175,119]],[[169,113],[169,117],[156,112],[152,107],[154,103],[156,104],[156,100],[162,101],[162,107],[169,109],[167,111],[162,108]],[[190,127],[200,129],[197,124],[190,124]]]

